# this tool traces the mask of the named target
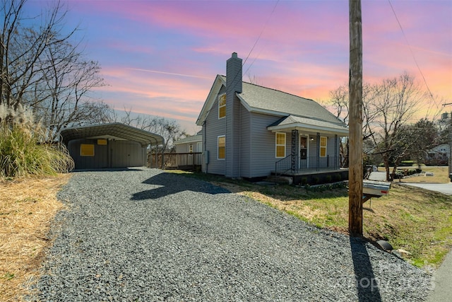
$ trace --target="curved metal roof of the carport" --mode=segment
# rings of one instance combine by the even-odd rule
[[[143,147],[148,146],[148,144],[154,146],[161,145],[165,142],[165,139],[158,134],[131,127],[120,122],[66,128],[61,130],[60,134],[66,145],[73,139],[117,139],[138,141]]]

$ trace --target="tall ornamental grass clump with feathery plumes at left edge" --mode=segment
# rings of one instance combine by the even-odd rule
[[[62,144],[46,142],[46,129],[32,112],[0,105],[0,178],[55,175],[74,168]]]

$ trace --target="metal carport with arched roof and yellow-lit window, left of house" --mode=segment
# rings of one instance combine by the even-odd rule
[[[152,150],[165,142],[158,134],[119,122],[66,128],[60,136],[76,169],[143,166],[148,146]]]

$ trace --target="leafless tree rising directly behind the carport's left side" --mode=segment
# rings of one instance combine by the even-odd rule
[[[98,76],[97,62],[86,61],[69,42],[48,47],[40,60],[50,68],[42,72],[42,81],[36,83],[31,105],[49,128],[49,134],[56,135],[68,126],[108,120],[109,106],[93,101],[89,95],[93,88],[104,85]]]

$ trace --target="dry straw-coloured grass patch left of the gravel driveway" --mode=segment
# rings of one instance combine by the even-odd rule
[[[70,178],[0,181],[0,300],[20,301],[37,281],[49,226],[63,207],[57,192]]]

